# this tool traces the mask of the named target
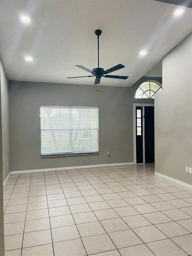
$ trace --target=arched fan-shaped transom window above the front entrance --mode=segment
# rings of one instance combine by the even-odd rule
[[[142,83],[135,94],[135,98],[154,99],[155,93],[162,92],[161,86],[153,81]]]

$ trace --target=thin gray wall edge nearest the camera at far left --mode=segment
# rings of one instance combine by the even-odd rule
[[[0,62],[1,65],[1,62]],[[0,72],[1,82],[1,72]],[[1,96],[1,86],[0,86]],[[4,224],[3,224],[3,155],[2,155],[2,119],[0,97],[0,256],[4,256]]]

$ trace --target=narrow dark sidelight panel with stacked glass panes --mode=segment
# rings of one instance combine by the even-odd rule
[[[143,107],[136,107],[136,160],[143,163]]]

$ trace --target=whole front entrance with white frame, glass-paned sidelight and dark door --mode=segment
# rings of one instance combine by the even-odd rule
[[[134,103],[134,164],[154,162],[154,104]]]

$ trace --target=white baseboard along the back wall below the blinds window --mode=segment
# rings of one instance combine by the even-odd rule
[[[134,162],[129,163],[115,163],[115,164],[92,164],[92,165],[81,165],[81,166],[69,166],[69,167],[58,167],[58,168],[47,168],[47,169],[35,169],[35,170],[22,170],[22,171],[11,171],[11,174],[18,173],[38,173],[38,172],[49,172],[49,171],[61,171],[70,169],[82,169],[82,168],[93,168],[93,167],[103,167],[103,166],[116,166],[116,165],[131,165]]]

